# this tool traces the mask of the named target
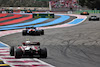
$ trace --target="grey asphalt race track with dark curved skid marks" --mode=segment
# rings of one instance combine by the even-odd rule
[[[100,14],[95,15],[100,17]],[[47,29],[43,36],[16,33],[0,37],[0,41],[10,46],[21,44],[26,39],[38,41],[41,47],[46,47],[48,57],[40,60],[53,66],[100,67],[100,21],[88,21],[87,18],[76,26]]]

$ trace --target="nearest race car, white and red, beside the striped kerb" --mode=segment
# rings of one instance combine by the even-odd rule
[[[19,45],[17,47],[11,46],[10,56],[15,56],[15,58],[46,58],[47,49],[40,48],[39,42],[31,43],[30,41],[26,41],[25,43],[23,43],[23,45]]]

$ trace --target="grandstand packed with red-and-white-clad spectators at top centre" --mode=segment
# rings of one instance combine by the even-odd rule
[[[52,11],[73,11],[79,8],[77,0],[52,0],[50,2]]]

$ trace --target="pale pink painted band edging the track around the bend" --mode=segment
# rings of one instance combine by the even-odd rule
[[[82,20],[81,22],[79,23],[82,23],[83,21],[86,20],[86,16],[82,16],[82,15],[75,15],[75,14],[64,14],[64,15],[70,15],[70,16],[76,16],[77,19],[84,19]],[[71,22],[73,22],[74,20],[72,20]],[[70,22],[69,22],[70,23]],[[77,23],[77,24],[79,24]],[[49,26],[49,27],[39,27],[39,29],[51,29],[51,28],[60,28],[60,27],[70,27],[70,26],[74,26],[74,25],[77,25],[77,24],[62,24],[62,25],[56,25],[56,26]],[[5,35],[9,35],[9,34],[14,34],[14,33],[18,33],[18,32],[22,32],[23,29],[20,29],[20,30],[8,30],[8,31],[2,31],[0,32],[0,37],[1,36],[5,36]]]

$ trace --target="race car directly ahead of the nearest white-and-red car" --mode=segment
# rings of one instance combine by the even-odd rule
[[[44,35],[44,30],[39,30],[36,27],[26,27],[26,30],[22,31],[22,35]]]

